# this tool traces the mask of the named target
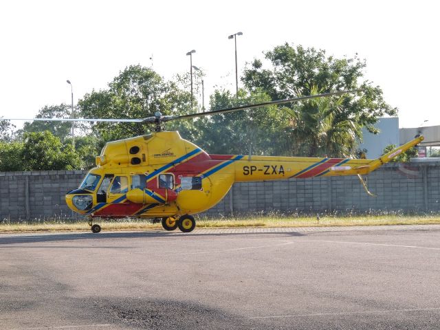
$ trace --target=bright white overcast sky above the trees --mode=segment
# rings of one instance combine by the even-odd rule
[[[129,65],[173,78],[192,64],[214,86],[276,45],[293,43],[366,59],[365,78],[399,109],[399,126],[440,124],[439,1],[24,1],[0,2],[0,116],[33,118],[74,103]],[[151,61],[151,57],[153,60]],[[426,122],[426,120],[428,120]],[[17,122],[14,122],[17,126]]]

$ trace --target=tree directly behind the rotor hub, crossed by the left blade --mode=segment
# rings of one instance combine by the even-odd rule
[[[190,94],[166,82],[152,69],[131,65],[109,83],[109,88],[92,91],[78,102],[85,118],[145,118],[160,111],[162,115],[188,113]],[[96,123],[101,141],[144,135],[151,125],[142,123]]]

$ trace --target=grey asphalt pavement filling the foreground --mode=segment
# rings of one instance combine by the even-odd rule
[[[440,225],[0,234],[0,329],[440,329]]]

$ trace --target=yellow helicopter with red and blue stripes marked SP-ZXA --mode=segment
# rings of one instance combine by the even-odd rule
[[[179,228],[181,232],[192,232],[196,225],[192,214],[219,203],[235,182],[358,175],[367,194],[373,196],[362,175],[419,144],[423,136],[417,136],[377,159],[213,155],[184,140],[178,131],[164,131],[162,123],[355,91],[359,90],[300,96],[187,115],[162,115],[157,111],[151,117],[140,119],[20,120],[154,124],[155,130],[151,134],[107,142],[96,157],[96,167],[89,170],[78,188],[65,195],[67,206],[89,217],[94,233],[101,231],[100,225],[94,223],[95,219],[124,217],[153,219],[160,221],[164,230]]]

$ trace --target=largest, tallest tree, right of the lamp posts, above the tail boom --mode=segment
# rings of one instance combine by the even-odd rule
[[[377,122],[377,118],[383,115],[397,114],[397,109],[384,101],[380,87],[373,86],[367,80],[362,80],[366,63],[360,61],[358,56],[335,58],[327,56],[324,50],[305,49],[300,45],[293,47],[285,43],[266,52],[265,58],[270,61],[272,67],[263,68],[263,62],[255,59],[252,65],[245,68],[241,80],[250,91],[260,89],[268,94],[272,100],[310,95],[313,89],[320,91],[320,93],[362,89],[358,94],[345,94],[342,98],[333,98],[331,101],[333,103],[332,109],[324,112],[328,113],[325,121],[316,118],[317,113],[321,113],[318,117],[322,117],[323,112],[318,109],[318,106],[321,104],[323,107],[322,102],[324,101],[309,101],[290,107],[294,111],[292,129],[296,130],[294,137],[298,139],[298,143],[311,140],[309,138],[312,134],[311,131],[316,131],[312,134],[315,136],[322,134],[322,127],[319,125],[326,122],[327,129],[325,131],[332,133],[334,137],[334,139],[333,137],[327,138],[327,149],[329,152],[334,152],[334,146],[340,142],[344,144],[346,141],[342,138],[343,135],[358,135],[357,132],[362,126],[366,126],[369,131],[375,133],[377,130],[373,124]],[[307,119],[307,113],[311,118]],[[331,117],[329,117],[330,113]],[[313,126],[313,122],[316,126]],[[293,125],[298,124],[307,124],[309,127],[302,129],[297,126],[295,129]],[[330,127],[333,129],[330,130]],[[339,133],[336,134],[336,132]],[[330,147],[329,143],[333,144],[333,147]],[[352,139],[349,144],[352,144]],[[351,145],[344,146],[344,152],[341,150],[337,153],[341,155],[345,151],[349,151],[351,147]],[[318,146],[307,146],[299,152],[303,155],[312,155],[311,152],[314,149],[318,151],[319,148]],[[294,152],[296,151],[294,150]]]

